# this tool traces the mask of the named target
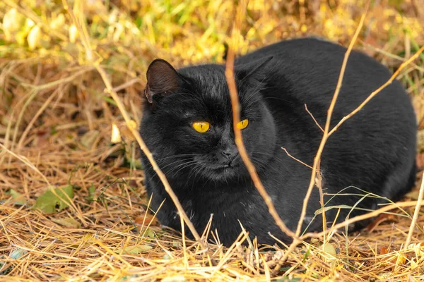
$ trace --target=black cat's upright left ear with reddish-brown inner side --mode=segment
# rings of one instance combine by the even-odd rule
[[[155,59],[148,66],[145,94],[149,103],[153,103],[155,94],[170,94],[177,90],[182,79],[170,63],[163,59]]]

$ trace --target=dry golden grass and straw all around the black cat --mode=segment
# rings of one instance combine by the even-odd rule
[[[395,71],[424,44],[419,3],[373,1],[355,48]],[[398,208],[361,233],[329,233],[292,252],[258,249],[255,241],[204,248],[148,212],[138,145],[126,125],[142,114],[146,67],[156,57],[177,66],[223,62],[243,5],[1,1],[0,280],[423,281],[423,212],[410,228],[420,176]],[[251,0],[243,11],[240,54],[305,35],[347,46],[365,2]],[[424,54],[398,79],[420,122],[422,169]]]

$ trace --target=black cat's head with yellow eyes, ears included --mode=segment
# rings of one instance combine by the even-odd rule
[[[270,59],[235,66],[240,123],[258,170],[276,148],[276,128],[261,97]],[[224,181],[248,178],[235,145],[225,67],[173,68],[157,59],[147,71],[141,136],[168,178]]]

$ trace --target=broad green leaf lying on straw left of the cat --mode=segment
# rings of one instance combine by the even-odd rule
[[[69,199],[73,198],[72,185],[55,188],[54,192],[52,192],[52,190],[47,190],[44,194],[38,197],[33,209],[41,209],[45,214],[53,214],[56,212],[56,206],[59,205],[60,212],[62,209],[69,207],[69,200],[66,196],[68,196]]]

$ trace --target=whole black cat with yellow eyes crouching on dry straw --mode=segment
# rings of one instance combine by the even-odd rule
[[[337,44],[304,38],[278,42],[235,60],[241,105],[237,126],[278,214],[292,230],[300,218],[311,169],[288,157],[281,147],[312,165],[322,131],[305,104],[324,126],[345,52]],[[237,152],[224,71],[225,66],[218,64],[175,71],[166,61],[153,61],[147,71],[141,136],[199,233],[213,214],[212,230],[218,229],[224,245],[240,233],[237,220],[259,243],[275,243],[268,232],[288,243],[290,238],[274,223]],[[353,51],[331,128],[390,76],[380,63]],[[362,199],[366,192],[357,188],[393,201],[411,189],[416,130],[411,102],[395,81],[331,135],[321,162],[324,192],[355,188],[343,190],[349,195],[337,195],[326,206],[353,207],[360,201],[353,212],[341,209],[337,221],[345,220],[349,212],[353,217],[385,202]],[[180,229],[175,206],[143,154],[142,162],[153,209],[165,200],[158,219]],[[326,195],[325,200],[331,197]],[[312,221],[318,209],[319,192],[314,188],[302,228],[322,230],[322,219],[317,216]],[[326,212],[328,223],[336,213],[337,209]]]

